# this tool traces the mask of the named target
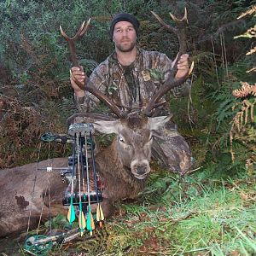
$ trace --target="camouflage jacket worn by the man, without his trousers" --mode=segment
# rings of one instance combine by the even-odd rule
[[[163,84],[172,68],[172,61],[157,51],[137,49],[137,58],[129,67],[119,64],[116,53],[109,55],[90,75],[90,81],[119,108],[137,108],[147,105],[148,100]],[[174,96],[189,91],[189,81],[172,90]],[[187,94],[187,93],[185,93]],[[102,112],[102,103],[85,92],[85,97],[75,98],[79,111]],[[167,108],[165,113],[168,113]],[[160,111],[162,113],[162,111]]]

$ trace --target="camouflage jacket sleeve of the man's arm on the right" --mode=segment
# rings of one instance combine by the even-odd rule
[[[165,54],[160,55],[160,68],[162,72],[164,72],[163,82],[165,82],[166,79],[169,77],[170,71],[172,69],[172,61]],[[176,98],[182,97],[182,96],[188,96],[190,88],[191,88],[191,82],[190,82],[190,79],[187,79],[185,83],[171,89],[172,95],[175,96]]]

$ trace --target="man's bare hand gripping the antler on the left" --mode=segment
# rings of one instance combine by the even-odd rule
[[[79,87],[76,81],[78,81],[79,84],[85,84],[86,76],[85,76],[84,70],[83,68],[72,67],[70,71],[71,71],[70,83],[71,83],[71,86],[73,87],[74,93],[78,97],[83,97],[84,90],[82,90]]]

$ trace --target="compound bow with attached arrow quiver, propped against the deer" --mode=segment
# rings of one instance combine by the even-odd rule
[[[63,206],[68,207],[67,220],[69,230],[52,236],[30,236],[26,239],[25,250],[32,255],[44,255],[54,243],[63,243],[83,236],[88,230],[92,236],[95,230],[95,220],[91,212],[91,204],[97,204],[96,223],[102,227],[104,215],[102,212],[101,181],[96,174],[95,143],[92,137],[94,126],[90,123],[75,123],[69,126],[68,135],[45,133],[41,140],[44,142],[72,143],[73,155],[68,157],[67,168],[47,166],[38,168],[47,172],[59,171],[61,177],[68,181],[67,189],[62,200]],[[79,229],[71,230],[73,221],[78,218]]]

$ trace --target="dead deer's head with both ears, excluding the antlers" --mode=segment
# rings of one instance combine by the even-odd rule
[[[121,165],[131,170],[137,179],[144,179],[150,172],[149,161],[154,131],[159,131],[171,117],[129,115],[126,119],[96,121],[97,131],[117,135],[113,148],[116,148]]]

